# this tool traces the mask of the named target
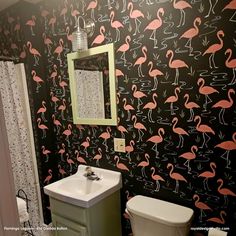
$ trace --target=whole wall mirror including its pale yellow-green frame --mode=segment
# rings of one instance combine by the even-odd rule
[[[67,54],[74,124],[117,125],[114,45]]]

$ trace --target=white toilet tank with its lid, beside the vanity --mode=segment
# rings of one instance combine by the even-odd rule
[[[133,236],[187,236],[193,210],[137,195],[126,204]]]

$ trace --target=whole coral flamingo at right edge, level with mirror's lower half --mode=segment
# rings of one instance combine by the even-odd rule
[[[225,121],[224,121],[224,114],[225,114],[225,109],[228,109],[230,107],[233,106],[233,99],[231,98],[231,94],[235,94],[235,91],[234,89],[229,89],[228,90],[228,100],[225,100],[225,99],[222,99],[220,100],[219,102],[215,103],[212,108],[221,108],[220,112],[219,112],[219,122],[222,124],[222,125],[228,125]]]

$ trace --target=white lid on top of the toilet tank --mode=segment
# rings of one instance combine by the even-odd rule
[[[193,217],[193,210],[188,207],[142,195],[132,197],[126,207],[131,216],[133,213],[172,226],[185,226]]]

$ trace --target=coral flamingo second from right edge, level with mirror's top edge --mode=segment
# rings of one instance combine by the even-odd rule
[[[209,66],[210,66],[211,69],[212,69],[213,67],[214,67],[214,68],[218,68],[218,67],[216,66],[216,64],[215,64],[215,59],[214,59],[214,57],[215,57],[215,53],[218,52],[219,50],[221,50],[222,47],[223,47],[223,45],[224,45],[223,40],[222,40],[222,37],[224,37],[224,36],[225,36],[225,34],[224,34],[223,30],[219,30],[219,31],[217,32],[217,38],[219,39],[220,43],[215,43],[215,44],[211,45],[211,46],[202,54],[203,56],[206,55],[206,54],[210,54],[210,57],[209,57]],[[213,67],[212,67],[211,62],[212,62],[212,64],[213,64]]]

